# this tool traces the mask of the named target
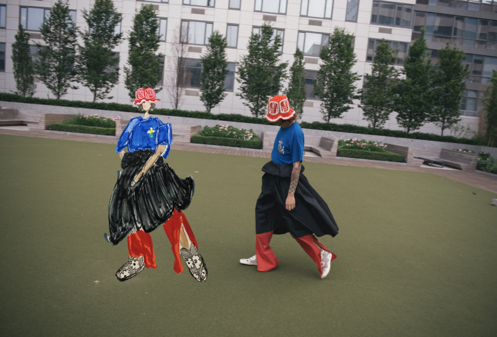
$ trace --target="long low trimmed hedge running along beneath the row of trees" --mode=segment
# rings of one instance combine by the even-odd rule
[[[83,102],[83,101],[73,101],[65,99],[47,99],[47,98],[34,98],[34,97],[23,97],[21,95],[16,95],[12,93],[0,92],[0,100],[9,102],[20,102],[20,103],[34,103],[34,104],[45,104],[45,105],[57,105],[57,106],[70,106],[70,107],[80,107],[87,109],[100,109],[100,110],[114,110],[123,112],[139,112],[137,107],[131,104],[119,104],[119,103],[99,103],[99,102]],[[201,111],[185,111],[179,109],[155,109],[154,114],[165,115],[165,116],[177,116],[177,117],[188,117],[188,118],[203,118],[212,120],[222,120],[227,122],[242,122],[251,124],[266,124],[270,125],[265,118],[249,117],[240,114],[211,114],[208,112]],[[469,138],[457,138],[454,136],[439,136],[430,133],[413,132],[407,133],[405,131],[399,130],[389,130],[389,129],[371,129],[364,126],[357,126],[352,124],[334,124],[334,123],[322,123],[322,122],[301,122],[300,126],[303,129],[314,129],[314,130],[326,130],[326,131],[337,131],[337,132],[347,132],[355,134],[364,135],[376,135],[376,136],[388,136],[396,138],[409,138],[409,139],[420,139],[429,140],[437,142],[447,142],[447,143],[457,143],[457,144],[468,144],[468,145],[486,145],[475,139]]]

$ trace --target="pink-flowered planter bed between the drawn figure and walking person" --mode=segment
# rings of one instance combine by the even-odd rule
[[[231,125],[205,126],[200,134],[191,138],[190,142],[246,149],[262,148],[262,142],[253,130],[237,129]]]

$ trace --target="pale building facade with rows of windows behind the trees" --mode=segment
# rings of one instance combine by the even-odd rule
[[[32,53],[35,43],[42,43],[39,26],[56,0],[0,0],[0,90],[15,91],[12,73],[11,44],[15,41],[17,26],[21,24],[30,33]],[[497,2],[490,0],[115,0],[116,9],[122,13],[122,22],[116,30],[124,33],[125,40],[115,49],[119,56],[119,84],[106,101],[131,104],[128,90],[124,86],[124,67],[128,58],[128,32],[132,29],[133,17],[144,4],[151,4],[160,18],[161,42],[159,52],[166,55],[164,78],[170,76],[167,58],[172,55],[172,43],[180,38],[188,43],[188,59],[185,63],[187,89],[185,110],[204,111],[198,97],[198,76],[202,64],[200,57],[206,51],[205,44],[210,33],[218,30],[227,36],[229,70],[226,80],[227,97],[213,113],[240,113],[250,115],[248,108],[235,93],[239,91],[236,81],[236,62],[248,53],[250,34],[257,33],[264,21],[269,21],[274,34],[283,38],[281,61],[293,62],[297,48],[304,51],[306,67],[307,100],[303,120],[322,121],[320,100],[314,95],[313,86],[319,70],[319,51],[326,45],[334,27],[343,27],[354,34],[357,63],[352,71],[359,75],[371,71],[374,51],[384,39],[399,48],[397,66],[402,67],[412,40],[419,36],[421,28],[426,30],[426,39],[431,57],[436,59],[438,50],[446,42],[457,44],[467,54],[471,77],[467,83],[461,104],[462,124],[477,130],[481,99],[488,87],[492,70],[497,70]],[[92,0],[69,0],[71,14],[80,29],[85,28],[83,9],[89,10]],[[180,31],[188,30],[188,37],[179,37]],[[81,41],[80,41],[81,43]],[[167,83],[167,81],[163,81]],[[362,87],[362,80],[357,88]],[[51,97],[50,90],[37,83],[36,97]],[[158,93],[160,107],[172,107],[166,90]],[[70,89],[63,99],[91,101],[91,92],[80,85]],[[367,126],[362,111],[356,105],[333,119],[333,123],[348,123]],[[391,115],[386,124],[389,129],[401,129]],[[439,134],[433,124],[424,125],[421,132]]]

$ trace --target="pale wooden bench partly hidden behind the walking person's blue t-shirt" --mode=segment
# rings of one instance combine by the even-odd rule
[[[276,140],[277,134],[277,132],[262,132],[262,152],[270,153],[273,151],[274,141]],[[323,158],[336,158],[337,148],[338,141],[331,138],[304,135],[304,149],[310,150]]]

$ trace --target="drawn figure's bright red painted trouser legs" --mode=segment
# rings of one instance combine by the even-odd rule
[[[179,254],[179,231],[181,230],[181,225],[186,231],[186,235],[190,241],[197,247],[198,244],[195,240],[195,236],[186,220],[185,215],[182,212],[174,210],[172,216],[164,224],[164,231],[166,232],[167,238],[171,243],[171,250],[174,254],[174,271],[178,274],[183,271],[183,264],[181,263],[181,255]],[[131,233],[128,235],[128,253],[129,256],[134,256],[139,258],[144,257],[145,266],[147,268],[157,268],[155,263],[155,253],[154,245],[152,244],[152,237],[149,233],[145,233],[142,230],[138,230],[136,233]]]

